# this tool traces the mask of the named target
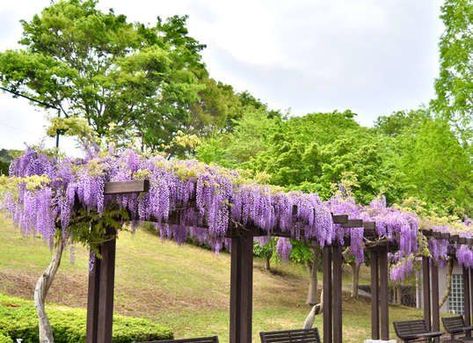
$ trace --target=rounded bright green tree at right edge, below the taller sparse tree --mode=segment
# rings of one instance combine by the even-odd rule
[[[472,163],[446,121],[427,120],[398,144],[402,151],[398,166],[409,185],[407,196],[425,201],[439,214],[471,215]]]

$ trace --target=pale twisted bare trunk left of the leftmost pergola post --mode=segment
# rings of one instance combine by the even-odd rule
[[[53,253],[51,262],[43,275],[36,282],[34,290],[34,303],[36,313],[39,319],[39,341],[40,343],[54,343],[53,330],[46,315],[45,300],[48,295],[49,288],[54,280],[54,276],[61,264],[62,252],[66,245],[66,239],[61,237],[57,243],[56,250]]]

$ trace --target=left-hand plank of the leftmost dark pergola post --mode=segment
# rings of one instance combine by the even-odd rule
[[[94,253],[89,257],[89,290],[87,292],[87,343],[97,343],[97,321],[100,284],[100,263]]]

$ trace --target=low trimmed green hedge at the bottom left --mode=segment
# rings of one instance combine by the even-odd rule
[[[56,343],[85,342],[86,311],[63,306],[47,306]],[[32,302],[0,295],[0,328],[13,340],[22,338],[23,343],[36,343],[38,320]],[[1,337],[1,336],[0,336]],[[113,342],[129,343],[172,338],[172,332],[148,319],[113,317]],[[5,343],[10,341],[5,341]],[[0,338],[0,343],[4,343]]]

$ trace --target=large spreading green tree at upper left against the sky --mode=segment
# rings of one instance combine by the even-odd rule
[[[61,0],[22,21],[24,48],[0,53],[0,81],[86,118],[100,137],[111,124],[133,128],[159,149],[189,124],[204,46],[188,36],[186,17],[146,26],[96,5]]]

